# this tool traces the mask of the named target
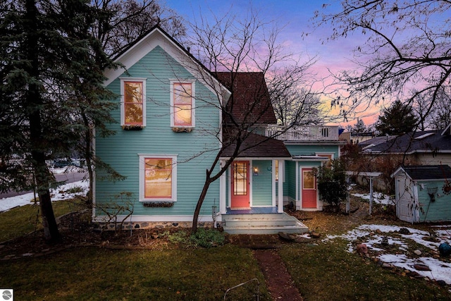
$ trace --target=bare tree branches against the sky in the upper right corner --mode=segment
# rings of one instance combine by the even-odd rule
[[[385,99],[416,106],[429,95],[426,118],[440,90],[450,85],[450,12],[448,0],[345,0],[339,13],[318,12],[316,25],[333,28],[330,39],[367,37],[355,49],[359,68],[335,75],[335,83],[345,86],[335,91],[333,104],[347,116],[358,106],[366,109]],[[416,92],[408,95],[411,87]]]

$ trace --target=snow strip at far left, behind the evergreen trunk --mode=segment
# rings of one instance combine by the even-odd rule
[[[80,188],[80,189],[78,189]],[[80,192],[68,193],[68,190],[74,189]],[[74,183],[68,183],[61,185],[57,189],[51,189],[51,200],[60,201],[61,199],[72,199],[77,195],[86,195],[89,189],[89,182],[87,180],[81,180]],[[18,195],[16,197],[5,197],[0,199],[0,212],[7,211],[14,207],[24,206],[27,204],[33,204],[35,195],[33,192],[27,193],[25,195]]]

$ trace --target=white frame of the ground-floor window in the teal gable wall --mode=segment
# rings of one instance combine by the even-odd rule
[[[176,154],[138,154],[140,157],[140,202],[176,202],[177,201],[177,155]],[[172,191],[171,198],[154,198],[147,199],[145,197],[145,176],[144,162],[147,158],[163,158],[172,159]]]

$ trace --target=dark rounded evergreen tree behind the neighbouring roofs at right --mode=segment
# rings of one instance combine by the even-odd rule
[[[401,135],[414,130],[418,118],[414,115],[412,106],[395,101],[388,109],[384,109],[378,118],[376,130],[379,135]]]

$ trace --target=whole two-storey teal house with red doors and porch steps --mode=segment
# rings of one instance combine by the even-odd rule
[[[205,171],[222,147],[221,166],[233,156],[237,128],[230,124],[239,121],[255,125],[243,132],[228,171],[210,185],[199,223],[221,224],[229,233],[307,231],[283,204],[322,209],[312,171],[340,156],[338,127],[283,130],[262,73],[213,74],[159,27],[116,61],[123,68],[105,74],[106,87],[119,95],[112,112],[118,123],[108,125],[116,135],[96,137],[95,152],[125,180],[96,171],[94,221],[190,226]]]

